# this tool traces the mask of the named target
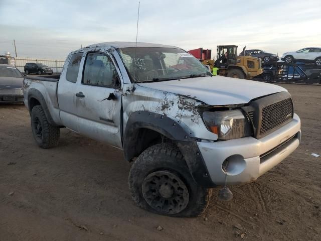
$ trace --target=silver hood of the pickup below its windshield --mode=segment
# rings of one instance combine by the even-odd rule
[[[208,105],[244,104],[257,97],[287,91],[274,84],[223,76],[139,83],[138,85],[185,95]]]

